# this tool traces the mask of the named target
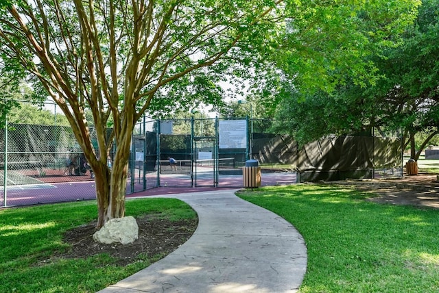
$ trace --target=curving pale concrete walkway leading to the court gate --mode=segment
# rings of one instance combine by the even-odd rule
[[[296,292],[307,268],[302,236],[235,191],[163,196],[195,209],[195,233],[159,262],[99,292]]]

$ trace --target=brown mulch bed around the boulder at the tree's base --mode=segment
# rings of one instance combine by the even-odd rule
[[[58,257],[86,258],[98,253],[107,253],[117,259],[117,264],[126,266],[139,259],[139,255],[165,257],[178,246],[185,243],[198,226],[198,219],[170,221],[157,216],[136,218],[139,225],[139,238],[131,244],[102,244],[93,240],[96,222],[82,225],[67,231],[64,242],[71,249]]]

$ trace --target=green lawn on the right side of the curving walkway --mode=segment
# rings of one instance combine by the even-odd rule
[[[239,192],[305,238],[300,292],[439,292],[439,211],[364,201],[340,186]]]

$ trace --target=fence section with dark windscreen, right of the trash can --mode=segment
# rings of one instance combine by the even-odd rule
[[[402,145],[397,133],[330,137],[299,146],[290,136],[267,131],[273,122],[254,120],[252,126],[251,155],[265,170],[295,170],[298,182],[403,175]]]

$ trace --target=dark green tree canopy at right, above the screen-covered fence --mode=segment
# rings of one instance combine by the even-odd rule
[[[425,0],[410,26],[394,46],[376,49],[366,60],[377,68],[377,82],[362,86],[346,75],[332,92],[304,92],[284,87],[285,107],[278,108],[279,128],[291,129],[305,143],[328,135],[358,131],[401,131],[405,142],[422,132],[438,133],[439,27],[438,1]],[[311,120],[314,120],[311,123]],[[320,122],[319,122],[320,121]],[[427,136],[425,136],[427,135]],[[418,145],[420,151],[428,143]]]

